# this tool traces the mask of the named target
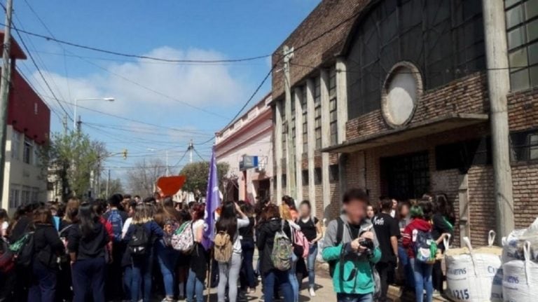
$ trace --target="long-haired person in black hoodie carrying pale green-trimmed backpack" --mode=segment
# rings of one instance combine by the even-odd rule
[[[291,238],[291,228],[287,222],[282,223],[279,208],[277,205],[269,204],[263,211],[263,219],[258,228],[256,240],[256,245],[260,251],[260,270],[263,276],[265,302],[274,301],[275,287],[280,287],[284,301],[294,301],[294,291],[291,288],[289,272],[277,270],[271,260],[275,235],[280,230]]]

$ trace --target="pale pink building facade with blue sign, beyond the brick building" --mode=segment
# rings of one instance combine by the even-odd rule
[[[263,97],[246,114],[216,134],[216,161],[228,163],[230,170],[224,181],[225,200],[248,200],[271,195],[273,179],[273,122]]]

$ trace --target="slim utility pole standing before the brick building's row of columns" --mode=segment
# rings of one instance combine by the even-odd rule
[[[284,55],[284,113],[286,114],[286,169],[288,180],[288,193],[293,198],[297,198],[296,174],[295,174],[295,147],[294,138],[291,133],[291,82],[289,76],[289,61],[294,57],[294,48],[284,46],[282,53]]]

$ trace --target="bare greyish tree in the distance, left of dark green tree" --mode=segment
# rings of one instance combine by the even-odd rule
[[[127,172],[127,188],[129,193],[140,196],[151,196],[159,177],[166,174],[163,160],[153,158],[135,164],[135,169]]]

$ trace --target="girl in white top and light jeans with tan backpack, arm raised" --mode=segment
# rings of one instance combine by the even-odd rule
[[[214,238],[214,258],[219,262],[219,287],[217,296],[219,302],[226,299],[228,285],[228,301],[237,301],[237,279],[241,268],[241,239],[239,228],[250,224],[237,203],[225,203],[222,206],[219,221],[216,222]]]

